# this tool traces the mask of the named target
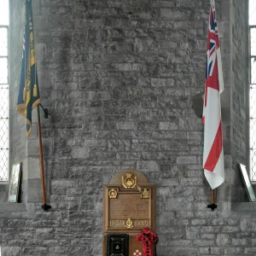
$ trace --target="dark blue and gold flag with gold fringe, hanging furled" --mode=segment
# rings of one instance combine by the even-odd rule
[[[26,136],[29,136],[32,126],[32,109],[40,103],[31,0],[26,0],[25,26],[22,47],[17,110],[26,118]]]

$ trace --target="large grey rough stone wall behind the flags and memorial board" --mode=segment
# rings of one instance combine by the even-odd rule
[[[209,1],[33,0],[39,87],[49,108],[42,129],[52,210],[43,212],[38,201],[32,209],[1,218],[3,256],[102,255],[102,183],[124,168],[137,169],[157,184],[158,256],[256,251],[256,216],[230,203],[246,195],[235,168],[236,161],[246,161],[246,128],[239,128],[246,120],[246,74],[238,68],[246,63],[246,2],[216,1],[227,179],[212,212],[207,209],[211,189],[201,168],[203,127],[191,102],[204,89]],[[12,1],[10,9],[15,88],[21,3]],[[231,82],[235,74],[236,87]],[[12,116],[13,139],[22,148],[25,125],[16,113]],[[36,137],[28,140],[26,152],[14,143],[12,160],[38,160]],[[37,180],[39,166],[26,172]],[[39,193],[39,186],[32,191]]]

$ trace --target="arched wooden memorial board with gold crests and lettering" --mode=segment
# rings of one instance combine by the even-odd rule
[[[148,183],[142,172],[125,169],[103,185],[103,256],[109,254],[109,234],[129,235],[129,254],[123,256],[143,253],[136,236],[145,227],[155,232],[155,184]]]

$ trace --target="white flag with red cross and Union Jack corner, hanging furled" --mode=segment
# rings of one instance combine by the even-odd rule
[[[224,90],[218,26],[214,0],[211,0],[208,41],[207,74],[203,108],[204,151],[203,168],[212,189],[224,183],[224,152],[220,94]]]

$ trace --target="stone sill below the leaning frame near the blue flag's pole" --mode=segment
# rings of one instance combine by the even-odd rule
[[[0,218],[35,218],[33,203],[0,203]]]

